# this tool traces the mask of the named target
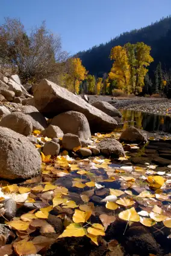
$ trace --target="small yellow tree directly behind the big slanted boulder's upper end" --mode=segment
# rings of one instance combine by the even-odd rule
[[[70,58],[66,63],[66,84],[67,88],[75,93],[79,93],[79,85],[87,75],[85,67],[79,58]]]

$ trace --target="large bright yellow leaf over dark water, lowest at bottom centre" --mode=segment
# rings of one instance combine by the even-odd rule
[[[69,226],[66,227],[64,232],[58,237],[83,237],[87,234],[87,231],[85,228],[82,228],[82,226],[78,223],[71,223]]]

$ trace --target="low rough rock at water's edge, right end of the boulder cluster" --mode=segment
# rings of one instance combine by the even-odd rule
[[[118,158],[120,156],[125,156],[123,146],[116,139],[104,139],[98,143],[98,148],[101,153],[107,156],[113,155]]]

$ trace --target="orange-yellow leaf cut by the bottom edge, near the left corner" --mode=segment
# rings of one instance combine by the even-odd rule
[[[14,251],[17,255],[30,255],[36,254],[37,249],[33,241],[26,241],[25,239],[13,244]]]

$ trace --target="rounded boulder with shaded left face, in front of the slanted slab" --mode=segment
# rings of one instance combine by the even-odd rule
[[[63,133],[72,133],[77,135],[80,139],[90,139],[90,126],[84,114],[76,111],[68,111],[51,120],[51,125],[57,125],[61,128]]]

